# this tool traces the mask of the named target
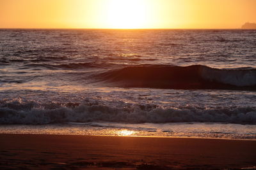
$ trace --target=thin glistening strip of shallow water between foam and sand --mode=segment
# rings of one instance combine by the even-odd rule
[[[154,131],[153,131],[154,130]],[[143,138],[199,138],[256,140],[255,125],[240,124],[111,124],[1,125],[0,134],[76,136],[132,136]]]

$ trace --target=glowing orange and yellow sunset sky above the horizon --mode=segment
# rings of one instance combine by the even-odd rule
[[[0,28],[237,29],[256,0],[0,0]]]

